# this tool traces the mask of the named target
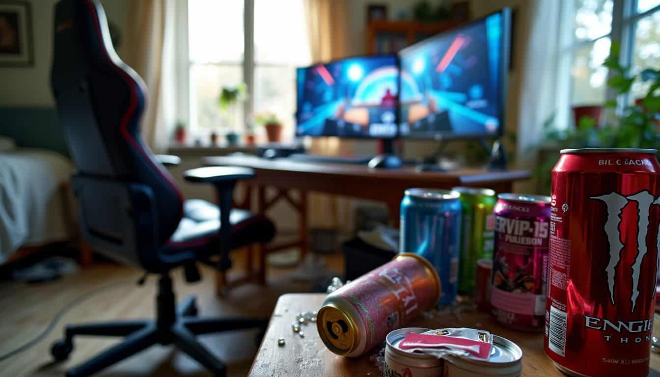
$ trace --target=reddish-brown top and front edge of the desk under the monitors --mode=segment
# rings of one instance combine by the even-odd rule
[[[205,157],[202,161],[207,166],[253,168],[255,178],[243,182],[257,187],[312,191],[384,202],[390,211],[391,223],[395,226],[398,226],[399,205],[406,189],[473,186],[502,193],[510,192],[513,182],[530,177],[526,170],[496,172],[466,167],[448,172],[418,172],[414,166],[372,169],[361,164],[300,162],[286,158],[269,160],[246,154]]]

